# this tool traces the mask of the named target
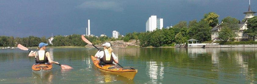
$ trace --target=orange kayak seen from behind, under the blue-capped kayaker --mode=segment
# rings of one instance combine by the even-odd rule
[[[41,78],[44,78],[46,74],[52,71],[52,64],[38,64],[33,65],[32,72],[39,75]]]

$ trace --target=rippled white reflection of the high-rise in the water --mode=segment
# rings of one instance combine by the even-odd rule
[[[154,61],[146,62],[147,74],[149,74],[149,83],[157,83],[157,80],[163,80],[164,78],[164,66],[163,63],[157,63]]]

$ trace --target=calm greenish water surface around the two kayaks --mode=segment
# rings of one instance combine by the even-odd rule
[[[97,70],[96,49],[47,49],[54,61],[72,66],[41,79],[28,52],[0,49],[0,83],[257,83],[257,48],[114,48],[122,66],[138,69],[134,80]]]

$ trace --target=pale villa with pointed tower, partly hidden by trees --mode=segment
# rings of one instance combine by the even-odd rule
[[[245,41],[245,40],[253,39],[252,37],[249,37],[247,35],[247,33],[243,33],[243,32],[244,32],[244,29],[247,29],[247,24],[246,24],[247,20],[249,18],[254,17],[254,13],[256,13],[256,12],[253,12],[251,10],[250,4],[249,4],[248,12],[244,12],[244,14],[245,14],[245,17],[244,17],[245,22],[239,22],[237,24],[239,30],[237,32],[238,36],[235,37],[235,41]],[[218,38],[218,36],[219,36],[218,32],[222,29],[222,26],[221,26],[222,23],[223,22],[221,22],[220,24],[217,24],[215,27],[212,28],[211,38],[212,38],[213,41],[220,41],[220,39]],[[256,36],[255,36],[255,38],[256,38]],[[257,39],[255,39],[255,41],[256,40]]]

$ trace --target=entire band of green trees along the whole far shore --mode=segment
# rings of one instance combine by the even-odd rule
[[[156,29],[152,32],[132,32],[127,33],[124,37],[118,36],[118,39],[102,36],[85,36],[92,44],[94,45],[101,45],[103,42],[112,42],[112,41],[119,41],[122,42],[118,43],[117,46],[121,47],[132,47],[131,45],[127,45],[127,43],[131,41],[135,41],[135,46],[138,47],[174,47],[175,44],[183,44],[187,43],[186,40],[188,39],[196,39],[199,43],[204,42],[212,42],[211,40],[211,31],[212,28],[215,27],[219,23],[218,19],[219,15],[215,12],[209,12],[203,15],[203,18],[200,21],[192,20],[189,22],[181,21],[178,24],[174,25],[170,28],[162,28]],[[257,16],[250,18],[247,24],[249,25],[247,32],[248,35],[255,36],[257,35],[255,31],[250,31],[252,29],[256,29],[254,21],[257,21]],[[252,23],[251,23],[252,21]],[[221,40],[221,45],[223,44],[257,44],[251,40],[244,40],[245,42],[233,42],[235,41],[236,31],[238,31],[238,23],[240,20],[237,20],[233,17],[226,17],[222,20],[223,26],[226,28],[227,31],[219,32],[218,38]],[[84,47],[87,44],[82,41],[81,35],[73,34],[68,36],[56,35],[53,37],[52,45],[50,46],[81,46]],[[48,38],[50,39],[50,37]],[[231,42],[229,42],[231,41]],[[0,47],[13,47],[17,46],[18,44],[24,45],[25,47],[34,47],[38,46],[40,42],[49,43],[45,36],[39,38],[35,36],[29,37],[13,37],[13,36],[0,36]],[[112,43],[111,43],[112,44]],[[58,47],[57,47],[58,48]],[[62,48],[62,47],[59,47]]]

